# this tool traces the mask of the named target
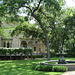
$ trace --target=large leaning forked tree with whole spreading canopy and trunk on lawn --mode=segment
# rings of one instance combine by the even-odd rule
[[[54,46],[55,49],[58,49],[59,44],[60,46],[64,44],[65,39],[68,37],[68,35],[66,35],[68,34],[66,30],[67,25],[64,25],[65,21],[63,22],[63,20],[69,15],[70,11],[66,11],[66,13],[65,9],[61,11],[64,4],[64,0],[3,0],[2,5],[0,5],[0,12],[1,16],[4,16],[8,21],[18,22],[18,26],[12,34],[17,30],[17,34],[22,31],[24,34],[28,34],[27,36],[32,35],[37,37],[41,35],[47,45],[47,60],[50,60],[50,47]],[[22,13],[26,14],[24,18],[19,17]],[[66,15],[67,13],[68,15]],[[38,28],[36,28],[35,24],[30,26],[30,24],[26,22],[33,18]],[[67,21],[70,20],[68,19]],[[71,23],[72,22],[69,24]]]

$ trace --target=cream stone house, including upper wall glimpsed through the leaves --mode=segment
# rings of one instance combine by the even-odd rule
[[[2,22],[2,27],[15,27],[16,24],[13,23],[5,23]],[[11,29],[9,28],[9,29]],[[10,36],[10,30],[5,29],[4,32],[6,32],[7,36]],[[15,35],[13,37],[10,36],[10,38],[4,38],[3,36],[0,36],[0,47],[6,47],[6,48],[32,48],[34,53],[45,53],[45,45],[42,41],[38,41],[39,38],[32,39],[29,38],[23,38],[22,34]]]

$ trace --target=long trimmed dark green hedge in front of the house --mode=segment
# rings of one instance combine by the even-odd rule
[[[0,55],[6,55],[6,56],[11,56],[14,54],[30,54],[32,55],[33,50],[30,48],[0,48]]]

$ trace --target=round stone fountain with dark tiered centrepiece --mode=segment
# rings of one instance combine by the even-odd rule
[[[66,53],[63,53],[63,51],[61,51],[60,53],[57,53],[57,55],[60,55],[59,60],[45,61],[45,62],[43,62],[43,64],[46,64],[46,65],[57,65],[57,66],[66,66],[68,68],[68,71],[75,70],[75,61],[65,60],[64,59],[64,55],[65,54]]]

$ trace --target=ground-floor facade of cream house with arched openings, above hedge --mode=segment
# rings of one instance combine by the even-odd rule
[[[0,47],[6,47],[6,48],[32,48],[34,53],[45,53],[45,45],[42,43],[42,41],[38,41],[38,38],[36,39],[23,39],[22,35],[19,35],[17,37],[13,37],[11,39],[5,39],[2,36],[0,36]]]

